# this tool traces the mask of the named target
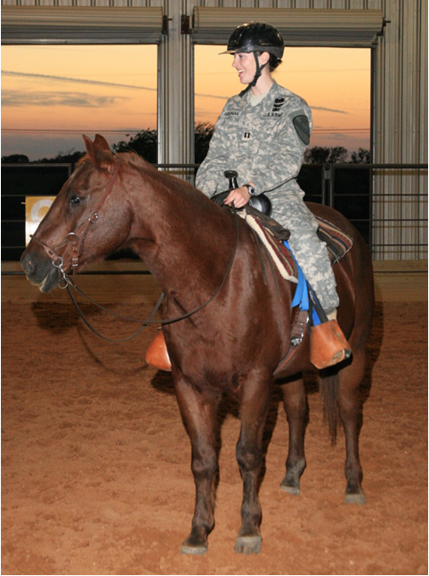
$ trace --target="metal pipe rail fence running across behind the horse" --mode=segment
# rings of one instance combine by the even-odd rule
[[[154,166],[193,183],[199,165]],[[427,259],[427,168],[423,163],[304,164],[298,183],[307,201],[335,208],[352,221],[373,259],[383,259],[380,254],[386,259],[401,259],[401,254],[405,259]],[[72,169],[72,164],[2,164],[2,260],[17,261],[25,249],[25,198],[56,195]]]

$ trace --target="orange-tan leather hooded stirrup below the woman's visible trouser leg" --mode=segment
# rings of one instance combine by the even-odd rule
[[[319,369],[335,366],[352,355],[352,348],[336,322],[336,310],[327,316],[328,322],[312,326],[310,333],[310,361]]]

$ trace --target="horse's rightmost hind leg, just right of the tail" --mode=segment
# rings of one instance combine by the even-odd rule
[[[344,504],[365,504],[361,487],[362,467],[359,457],[360,382],[365,374],[365,350],[353,350],[352,362],[339,370],[338,405],[345,435],[345,489]]]

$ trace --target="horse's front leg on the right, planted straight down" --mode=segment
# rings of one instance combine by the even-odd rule
[[[268,413],[271,376],[247,379],[241,389],[241,430],[236,454],[243,479],[241,527],[234,550],[257,554],[261,550],[262,510],[258,498],[258,476],[263,463],[263,429]]]

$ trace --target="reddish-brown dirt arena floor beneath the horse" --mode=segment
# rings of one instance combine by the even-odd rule
[[[169,374],[143,359],[153,331],[109,344],[66,300],[37,294],[2,307],[3,574],[427,574],[427,302],[377,304],[362,386],[367,505],[343,504],[344,437],[330,446],[313,380],[301,495],[279,490],[287,424],[274,390],[263,547],[236,555],[239,419],[225,403],[216,526],[206,555],[189,556],[190,443]],[[150,305],[113,308],[143,317]],[[85,311],[105,333],[130,331]]]

